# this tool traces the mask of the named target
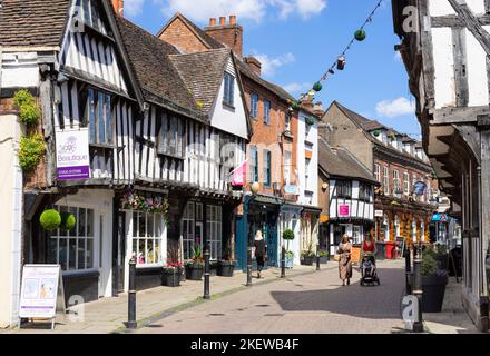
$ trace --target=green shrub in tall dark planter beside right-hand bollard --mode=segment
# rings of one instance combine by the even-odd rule
[[[422,253],[422,312],[440,313],[444,301],[448,271],[439,268],[433,251],[425,248]]]

